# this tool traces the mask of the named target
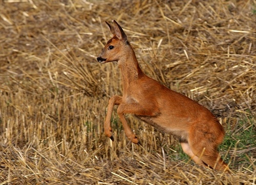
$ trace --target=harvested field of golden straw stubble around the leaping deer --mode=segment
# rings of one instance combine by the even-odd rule
[[[255,0],[0,3],[1,185],[256,183]],[[113,19],[147,75],[217,116],[232,174],[127,115],[142,146],[130,143],[116,108],[115,142],[104,136],[109,98],[122,94],[117,64],[96,61]]]

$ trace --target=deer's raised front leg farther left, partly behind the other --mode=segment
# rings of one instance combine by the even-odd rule
[[[104,131],[105,131],[105,135],[108,136],[112,141],[114,141],[114,137],[112,135],[111,116],[112,116],[114,105],[119,105],[121,102],[122,102],[122,97],[118,95],[112,96],[109,100],[108,112],[106,113],[106,119],[104,123]]]

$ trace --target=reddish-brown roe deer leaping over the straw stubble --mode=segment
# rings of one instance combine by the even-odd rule
[[[121,70],[123,96],[112,96],[104,123],[105,135],[112,141],[111,115],[114,105],[127,138],[139,144],[124,114],[133,114],[163,133],[179,138],[183,151],[197,164],[216,170],[229,170],[217,150],[225,131],[217,118],[194,100],[172,91],[143,73],[135,52],[120,25],[108,22],[113,38],[97,60],[101,64],[117,61]]]

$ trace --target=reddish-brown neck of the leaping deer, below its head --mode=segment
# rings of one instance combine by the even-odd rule
[[[137,58],[135,56],[134,50],[131,48],[131,52],[126,52],[128,55],[124,55],[121,60],[118,61],[118,67],[121,70],[123,90],[127,92],[129,85],[142,76],[142,72]]]

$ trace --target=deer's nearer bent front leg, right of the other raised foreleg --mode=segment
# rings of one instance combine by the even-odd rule
[[[158,113],[154,110],[146,110],[139,103],[121,103],[117,108],[117,114],[122,122],[123,129],[127,138],[135,144],[140,144],[138,138],[127,124],[124,114],[135,114],[139,116],[155,116]]]

